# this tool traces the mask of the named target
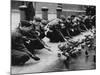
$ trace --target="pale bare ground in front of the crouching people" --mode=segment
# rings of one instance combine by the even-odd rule
[[[82,35],[76,36],[73,40],[82,39],[84,35],[91,34],[90,32],[85,32]],[[94,51],[89,52],[89,57],[87,58],[82,54],[75,59],[71,60],[69,68],[64,64],[66,59],[64,56],[58,57],[58,44],[59,43],[50,43],[49,40],[45,38],[45,42],[51,46],[52,52],[47,51],[46,49],[39,50],[37,55],[41,58],[40,61],[34,61],[30,59],[24,66],[12,66],[12,74],[18,73],[37,73],[37,72],[51,72],[51,71],[63,71],[63,70],[88,70],[95,69],[95,63],[93,62]]]

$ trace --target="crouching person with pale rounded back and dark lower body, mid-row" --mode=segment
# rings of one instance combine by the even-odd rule
[[[64,41],[63,37],[59,33],[59,30],[61,29],[61,25],[59,24],[60,19],[54,19],[47,25],[47,33],[46,36],[50,39],[50,42],[59,42]]]

